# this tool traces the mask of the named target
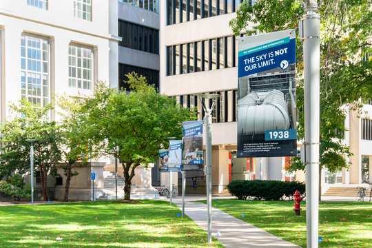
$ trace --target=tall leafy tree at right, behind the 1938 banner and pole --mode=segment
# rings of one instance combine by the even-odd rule
[[[304,10],[298,0],[244,1],[230,21],[236,36],[296,28]],[[349,167],[350,149],[342,140],[349,111],[360,112],[360,99],[372,98],[371,1],[324,0],[320,8],[320,165],[335,172]],[[254,23],[254,27],[249,23]],[[298,138],[304,138],[302,43],[297,42]],[[304,169],[299,158],[289,170]]]

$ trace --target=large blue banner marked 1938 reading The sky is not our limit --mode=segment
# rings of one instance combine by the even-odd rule
[[[296,32],[238,39],[238,157],[296,156]]]

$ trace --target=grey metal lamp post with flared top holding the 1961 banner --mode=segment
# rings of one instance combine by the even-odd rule
[[[205,135],[205,174],[207,176],[207,216],[208,216],[208,242],[211,244],[211,112],[214,108],[215,101],[209,108],[206,108],[203,99],[217,99],[220,97],[219,94],[196,94],[202,99],[203,109],[206,113],[205,115],[205,125],[206,125],[206,135]]]

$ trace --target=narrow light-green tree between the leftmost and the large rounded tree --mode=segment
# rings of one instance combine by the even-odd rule
[[[79,97],[59,96],[56,104],[61,108],[59,149],[61,151],[61,167],[66,176],[63,201],[68,201],[70,182],[73,176],[79,175],[74,171],[76,165],[82,165],[88,160],[87,128],[85,112],[83,112],[83,99]]]

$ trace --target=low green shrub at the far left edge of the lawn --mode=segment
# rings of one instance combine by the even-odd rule
[[[18,174],[10,176],[7,180],[0,181],[0,192],[14,197],[14,200],[31,197],[31,186],[26,184]]]

